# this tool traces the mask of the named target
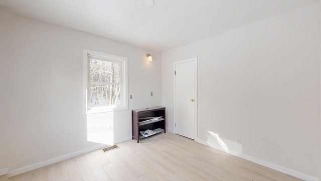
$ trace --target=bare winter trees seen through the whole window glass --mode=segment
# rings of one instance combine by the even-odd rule
[[[119,62],[89,59],[91,107],[121,105],[120,70]]]

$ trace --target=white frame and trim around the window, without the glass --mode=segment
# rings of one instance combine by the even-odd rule
[[[107,61],[115,61],[121,62],[122,69],[121,69],[121,77],[122,83],[120,84],[120,98],[121,98],[121,105],[120,106],[101,106],[101,107],[94,107],[91,108],[90,103],[90,82],[89,82],[89,58],[88,55],[91,57],[100,57],[101,60]],[[121,111],[121,110],[128,110],[128,78],[127,78],[127,64],[128,58],[108,53],[102,53],[93,50],[84,49],[83,53],[84,57],[84,74],[83,74],[83,85],[84,85],[84,113],[85,114],[94,114],[94,113],[104,113],[104,112],[112,112],[112,111]]]

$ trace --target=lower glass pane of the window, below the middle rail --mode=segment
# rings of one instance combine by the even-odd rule
[[[91,85],[91,107],[120,106],[120,85]]]

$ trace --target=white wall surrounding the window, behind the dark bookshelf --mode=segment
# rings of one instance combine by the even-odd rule
[[[0,10],[0,169],[129,139],[131,109],[161,105],[161,54]],[[129,110],[83,114],[83,49],[128,57]]]

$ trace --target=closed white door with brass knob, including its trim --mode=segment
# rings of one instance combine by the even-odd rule
[[[174,130],[176,134],[196,139],[197,58],[175,62],[174,68]]]

